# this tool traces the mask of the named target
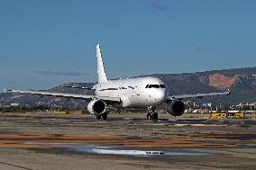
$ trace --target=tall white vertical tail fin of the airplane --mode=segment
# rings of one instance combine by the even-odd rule
[[[96,45],[96,58],[97,58],[98,83],[107,82],[107,79],[105,76],[105,68],[104,68],[104,64],[103,64],[103,59],[101,58],[101,51],[100,51],[99,44]]]

